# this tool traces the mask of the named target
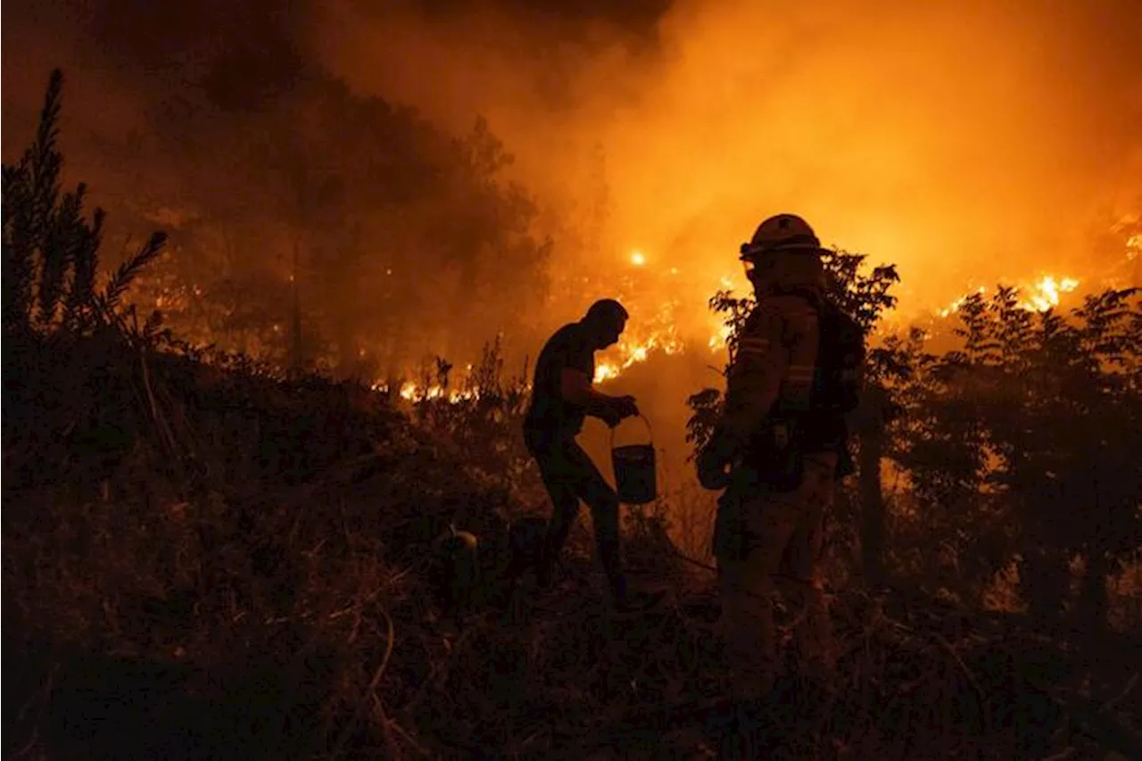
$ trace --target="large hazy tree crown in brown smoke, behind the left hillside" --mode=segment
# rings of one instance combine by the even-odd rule
[[[139,302],[162,301],[184,338],[284,363],[297,318],[303,365],[372,380],[426,347],[473,357],[483,336],[529,328],[552,242],[485,120],[452,136],[316,72],[275,110],[233,118],[217,135],[191,114],[177,145],[227,155],[227,171],[192,168],[190,199],[151,201],[187,211],[182,255]]]

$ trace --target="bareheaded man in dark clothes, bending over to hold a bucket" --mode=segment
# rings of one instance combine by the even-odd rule
[[[614,299],[595,302],[578,321],[563,326],[547,341],[536,361],[531,403],[524,418],[524,442],[539,466],[553,513],[537,576],[549,587],[560,551],[587,503],[595,528],[598,559],[619,609],[645,604],[628,593],[622,570],[619,498],[576,441],[587,416],[612,428],[638,415],[634,396],[611,396],[595,390],[595,352],[614,345],[627,323],[627,311]]]

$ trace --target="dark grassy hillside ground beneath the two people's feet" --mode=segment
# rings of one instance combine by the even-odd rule
[[[442,619],[431,539],[449,520],[472,528],[492,579],[505,519],[536,507],[513,496],[530,486],[489,480],[471,451],[352,386],[100,351],[21,365],[43,390],[112,368],[121,393],[62,417],[49,404],[5,440],[5,462],[24,465],[7,474],[0,534],[11,755],[717,755],[733,716],[713,577],[675,554],[661,514],[628,522],[632,569],[673,590],[658,611],[608,612],[584,521],[554,592],[525,583],[509,607],[489,582],[473,616]],[[25,403],[38,399],[51,396]],[[69,426],[95,433],[64,446]],[[846,591],[834,614],[837,674],[783,683],[767,758],[1128,750],[1139,691],[1089,708],[1123,691],[1115,662],[900,592]]]

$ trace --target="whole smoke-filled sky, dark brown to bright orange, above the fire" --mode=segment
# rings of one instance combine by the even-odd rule
[[[71,74],[70,166],[97,198],[158,183],[191,202],[216,171],[214,192],[226,160],[179,155],[177,114],[219,135],[250,111],[288,120],[314,70],[453,134],[483,114],[557,235],[556,281],[592,278],[549,322],[618,282],[640,305],[700,312],[723,278],[741,285],[738,245],[777,211],[898,264],[906,311],[999,278],[1086,278],[1111,264],[1091,235],[1142,198],[1142,9],[1127,0],[290,7],[0,0],[15,19],[0,114],[19,128],[0,149],[23,144],[54,65]],[[633,249],[679,285],[632,279]]]

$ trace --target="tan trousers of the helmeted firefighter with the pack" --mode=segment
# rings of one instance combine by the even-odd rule
[[[833,666],[833,627],[818,575],[821,530],[833,505],[834,452],[806,454],[793,491],[731,487],[715,528],[721,633],[734,674],[734,696],[764,697],[780,670],[773,607],[778,580],[789,590],[794,642],[803,665]]]

